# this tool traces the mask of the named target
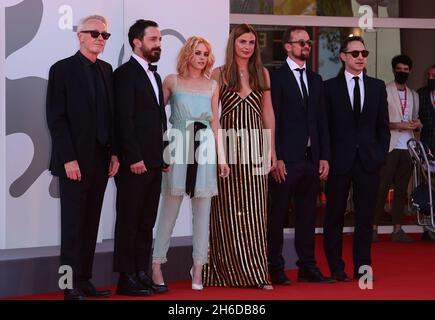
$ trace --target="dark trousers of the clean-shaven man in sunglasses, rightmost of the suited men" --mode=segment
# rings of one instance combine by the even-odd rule
[[[330,175],[326,184],[326,216],[324,249],[331,272],[344,271],[342,258],[343,225],[350,185],[353,187],[355,231],[353,240],[354,271],[371,265],[371,241],[376,199],[379,191],[379,172],[367,172],[359,158],[348,174]]]

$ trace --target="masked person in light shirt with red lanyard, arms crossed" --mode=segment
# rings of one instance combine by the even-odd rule
[[[402,216],[407,197],[412,161],[407,142],[414,138],[414,131],[422,127],[418,119],[419,100],[417,93],[406,83],[412,69],[412,60],[406,55],[395,56],[393,67],[394,81],[387,84],[388,113],[390,121],[390,148],[387,161],[381,170],[379,195],[373,224],[373,242],[378,242],[378,225],[384,214],[385,198],[390,186],[394,187],[392,217],[394,230],[391,239],[397,242],[412,242],[402,229]]]

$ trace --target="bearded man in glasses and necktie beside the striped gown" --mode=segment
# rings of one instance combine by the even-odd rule
[[[271,77],[278,161],[270,179],[269,273],[273,284],[290,284],[282,249],[294,197],[298,281],[328,283],[333,280],[323,276],[314,257],[317,194],[320,179],[326,179],[329,170],[323,82],[307,68],[312,41],[304,27],[289,28],[283,43],[287,60]]]

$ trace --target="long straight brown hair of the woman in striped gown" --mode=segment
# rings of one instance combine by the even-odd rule
[[[255,49],[248,62],[249,86],[252,90],[268,90],[264,79],[264,67],[261,61],[258,35],[255,29],[246,23],[239,24],[231,30],[227,43],[225,65],[222,69],[223,80],[228,89],[239,92],[242,88],[239,71],[235,59],[235,42],[238,37],[245,33],[252,33],[255,36]]]

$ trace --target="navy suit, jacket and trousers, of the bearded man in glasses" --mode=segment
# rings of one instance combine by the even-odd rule
[[[283,228],[290,199],[296,211],[295,246],[299,267],[315,266],[314,230],[319,191],[319,160],[329,160],[328,125],[322,78],[307,70],[308,103],[285,63],[271,75],[276,119],[276,152],[286,165],[283,183],[270,179],[268,250],[270,269],[283,269]],[[311,148],[307,148],[310,138]]]

